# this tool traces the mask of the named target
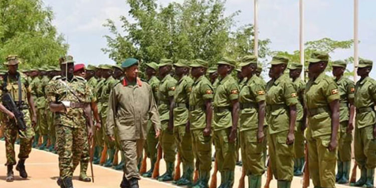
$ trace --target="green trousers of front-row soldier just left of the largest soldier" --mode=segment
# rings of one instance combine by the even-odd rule
[[[272,171],[279,181],[292,181],[294,176],[294,144],[287,145],[288,131],[269,134],[269,156]]]

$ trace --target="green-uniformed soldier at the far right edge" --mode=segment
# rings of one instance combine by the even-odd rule
[[[360,80],[355,85],[355,135],[354,154],[360,168],[360,179],[352,186],[373,187],[374,168],[376,167],[376,81],[368,75],[373,62],[361,59],[357,66]]]

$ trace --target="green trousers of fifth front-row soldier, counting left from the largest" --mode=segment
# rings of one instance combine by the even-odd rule
[[[210,171],[212,169],[212,136],[204,136],[204,129],[194,129],[192,132],[193,150],[198,169]]]

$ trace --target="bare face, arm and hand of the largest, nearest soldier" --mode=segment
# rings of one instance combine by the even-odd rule
[[[316,80],[316,78],[325,71],[327,62],[317,62],[317,63],[310,63],[308,66],[308,75],[310,79]],[[337,147],[337,132],[339,127],[339,100],[334,100],[329,103],[329,107],[331,110],[331,138],[328,145],[329,151],[334,151]],[[307,108],[304,109],[305,113],[307,113]],[[306,119],[303,119],[305,122]]]

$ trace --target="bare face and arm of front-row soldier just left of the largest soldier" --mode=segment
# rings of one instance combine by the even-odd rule
[[[273,82],[283,75],[283,72],[285,71],[285,69],[286,69],[285,64],[272,65],[272,68],[270,69],[270,76],[272,77]],[[294,129],[295,129],[295,121],[296,121],[296,105],[289,106],[289,113],[290,113],[290,126],[289,126],[289,132],[287,134],[286,144],[291,145],[294,143],[294,140],[295,140]]]

